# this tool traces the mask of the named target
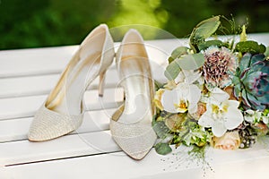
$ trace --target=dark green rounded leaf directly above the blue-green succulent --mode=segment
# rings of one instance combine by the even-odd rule
[[[250,54],[263,54],[265,53],[266,47],[263,44],[258,45],[256,41],[247,40],[239,42],[236,45],[235,50],[241,53],[249,52]]]

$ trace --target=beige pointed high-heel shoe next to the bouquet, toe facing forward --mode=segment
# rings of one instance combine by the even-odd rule
[[[110,120],[110,131],[118,146],[134,159],[152,149],[157,136],[152,129],[154,83],[143,38],[129,30],[116,55],[117,71],[126,101]]]

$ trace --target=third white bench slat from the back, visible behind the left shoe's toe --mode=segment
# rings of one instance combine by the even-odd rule
[[[33,116],[44,103],[47,95],[0,100],[0,120]],[[88,90],[84,94],[88,110],[115,108],[123,101],[122,89],[106,89],[104,97],[98,96],[98,90]]]

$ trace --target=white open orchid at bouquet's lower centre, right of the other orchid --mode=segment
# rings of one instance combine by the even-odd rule
[[[213,134],[221,137],[227,130],[235,129],[243,122],[244,118],[238,107],[239,101],[236,100],[226,100],[220,104],[208,103],[198,124],[212,127]]]

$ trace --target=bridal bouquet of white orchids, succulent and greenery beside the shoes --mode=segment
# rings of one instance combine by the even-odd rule
[[[268,48],[247,40],[245,26],[237,43],[217,39],[221,28],[220,16],[201,21],[169,57],[154,98],[159,154],[172,144],[246,149],[269,134]]]

